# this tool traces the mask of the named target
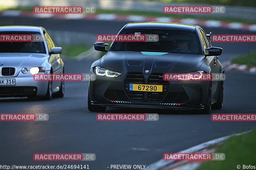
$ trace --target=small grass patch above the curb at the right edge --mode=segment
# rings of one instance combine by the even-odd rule
[[[247,66],[256,66],[256,52],[242,55],[231,60],[233,64],[246,64]]]

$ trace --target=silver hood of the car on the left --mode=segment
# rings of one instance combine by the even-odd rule
[[[23,67],[28,70],[30,67],[39,67],[47,56],[47,54],[39,53],[0,53],[0,63],[3,64],[0,67],[14,67],[13,76],[16,76]]]

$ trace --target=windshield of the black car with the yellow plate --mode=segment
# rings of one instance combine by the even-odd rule
[[[157,42],[113,42],[110,51],[200,54],[196,32],[167,29],[124,29],[121,34],[157,34]]]

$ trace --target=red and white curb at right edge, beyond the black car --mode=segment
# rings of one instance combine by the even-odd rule
[[[247,66],[245,64],[232,64],[230,61],[222,63],[225,70],[236,70],[242,72],[256,73],[256,66]]]

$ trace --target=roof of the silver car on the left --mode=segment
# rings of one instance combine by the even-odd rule
[[[41,26],[0,26],[0,31],[30,31],[30,32],[40,32],[44,29]]]

